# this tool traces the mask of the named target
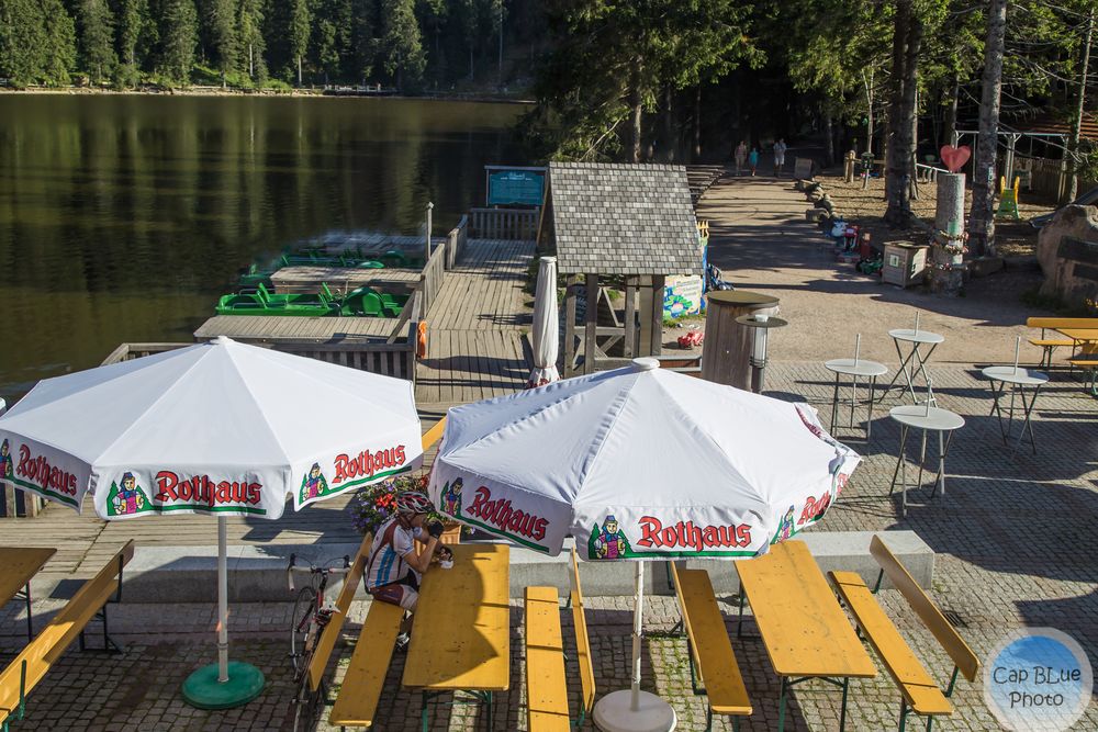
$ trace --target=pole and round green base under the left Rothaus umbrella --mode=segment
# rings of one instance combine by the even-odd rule
[[[264,690],[264,673],[248,663],[228,662],[228,537],[217,516],[217,663],[199,668],[183,682],[183,700],[198,709],[232,709]]]

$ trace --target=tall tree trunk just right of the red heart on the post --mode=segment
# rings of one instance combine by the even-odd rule
[[[974,256],[995,254],[995,148],[1002,91],[1002,46],[1007,33],[1007,0],[990,0],[984,45],[984,93],[979,100],[979,137],[972,177],[968,248]]]

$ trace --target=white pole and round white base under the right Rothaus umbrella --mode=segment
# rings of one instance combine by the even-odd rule
[[[603,732],[671,732],[677,719],[671,705],[640,690],[641,640],[645,612],[645,563],[637,562],[632,610],[632,685],[598,700],[592,714]]]

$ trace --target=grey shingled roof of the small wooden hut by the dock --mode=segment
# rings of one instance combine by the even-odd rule
[[[552,162],[546,218],[562,274],[702,273],[683,166]]]

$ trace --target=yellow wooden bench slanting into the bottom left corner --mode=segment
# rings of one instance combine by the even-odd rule
[[[131,540],[111,558],[99,574],[77,590],[61,611],[0,672],[0,729],[4,732],[10,722],[23,719],[26,694],[37,686],[72,641],[80,638],[81,650],[83,649],[83,629],[92,618],[102,618],[103,638],[107,639],[108,646],[114,645],[107,632],[107,604],[117,601],[121,597],[122,568],[133,555],[134,542]]]

